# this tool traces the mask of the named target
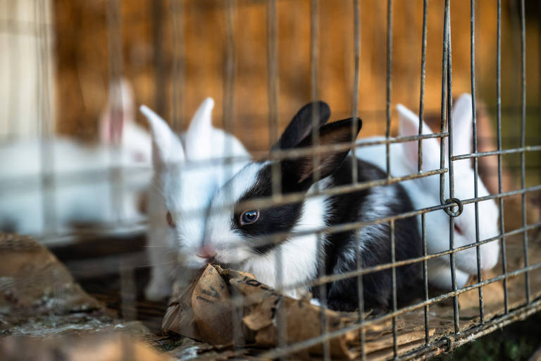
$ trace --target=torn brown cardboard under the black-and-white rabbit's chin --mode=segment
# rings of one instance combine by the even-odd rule
[[[240,317],[234,317],[235,305]],[[347,329],[357,322],[356,313],[335,312],[312,305],[309,299],[297,300],[282,295],[251,275],[218,266],[208,266],[192,287],[178,290],[170,302],[163,320],[163,331],[206,341],[214,345],[237,344],[257,348],[273,348],[278,345],[278,309],[287,320],[285,340],[287,344],[299,343],[323,334],[322,313],[327,331]],[[399,342],[414,343],[424,337],[418,328],[406,330],[406,324],[397,322]],[[234,330],[237,330],[235,334]],[[390,322],[375,324],[366,330],[366,340],[374,341],[366,351],[392,347]],[[321,355],[322,345],[306,350],[309,354]],[[330,340],[333,358],[354,359],[360,355],[359,331],[343,332]]]

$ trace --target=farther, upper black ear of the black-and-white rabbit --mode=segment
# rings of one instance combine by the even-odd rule
[[[290,149],[298,145],[301,140],[312,132],[314,116],[316,117],[318,127],[327,123],[330,117],[328,104],[318,101],[303,106],[292,118],[290,124],[285,128],[284,133],[282,133],[280,140],[273,145],[270,151]]]

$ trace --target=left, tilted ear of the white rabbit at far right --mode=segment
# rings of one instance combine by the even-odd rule
[[[411,137],[419,134],[419,117],[413,111],[407,109],[402,104],[397,105],[398,121],[399,121],[399,136]],[[423,133],[434,133],[428,125],[423,122]],[[404,157],[407,165],[412,172],[418,170],[418,142],[402,143],[404,147]],[[423,171],[432,171],[440,169],[440,142],[437,138],[429,138],[423,140]]]

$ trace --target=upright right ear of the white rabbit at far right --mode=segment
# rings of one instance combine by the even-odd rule
[[[462,94],[453,107],[453,154],[472,152],[473,111],[471,95]],[[466,164],[465,162],[459,162]]]

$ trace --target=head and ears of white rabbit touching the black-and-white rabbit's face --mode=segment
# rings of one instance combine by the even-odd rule
[[[184,145],[162,118],[141,107],[151,126],[154,187],[161,196],[161,204],[154,207],[157,214],[149,215],[151,227],[154,219],[154,226],[168,228],[168,237],[174,240],[179,255],[199,254],[213,193],[249,159],[237,138],[212,126],[213,106],[211,98],[199,106],[185,133]],[[223,157],[244,160],[224,163]],[[190,257],[189,262],[199,264],[197,257]]]

